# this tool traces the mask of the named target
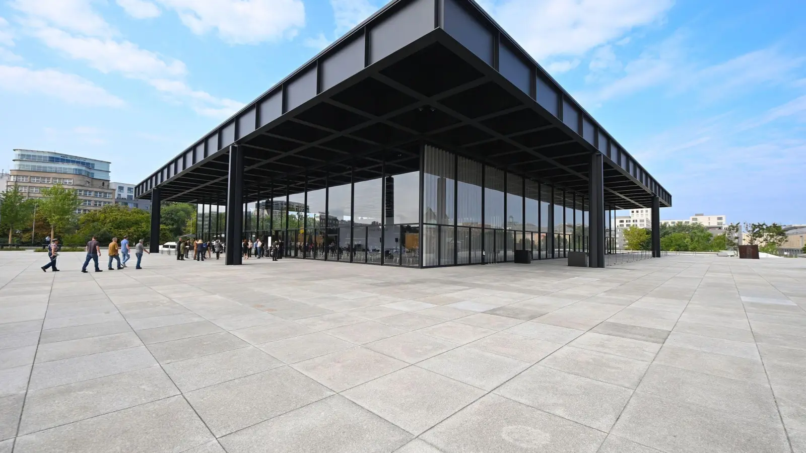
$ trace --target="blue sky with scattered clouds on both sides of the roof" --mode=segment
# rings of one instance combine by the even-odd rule
[[[46,149],[137,183],[382,4],[0,0],[0,168]],[[662,218],[806,222],[806,3],[480,4],[672,193]]]

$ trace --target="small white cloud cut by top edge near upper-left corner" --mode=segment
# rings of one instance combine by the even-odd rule
[[[89,36],[110,36],[114,30],[89,0],[12,0],[10,5],[32,18]]]

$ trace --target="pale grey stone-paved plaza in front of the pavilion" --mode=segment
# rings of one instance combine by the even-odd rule
[[[83,257],[0,252],[2,453],[806,452],[806,260]]]

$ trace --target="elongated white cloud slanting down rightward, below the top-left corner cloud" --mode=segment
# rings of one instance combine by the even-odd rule
[[[75,60],[84,60],[102,73],[121,73],[138,79],[181,77],[187,73],[181,61],[168,60],[129,41],[70,35],[53,27],[41,27],[33,33],[48,47]]]

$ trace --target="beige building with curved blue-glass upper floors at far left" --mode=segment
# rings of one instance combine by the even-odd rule
[[[73,188],[81,200],[77,214],[111,205],[110,163],[51,151],[15,149],[6,189],[17,185],[28,197],[42,197],[42,190],[60,184]]]

